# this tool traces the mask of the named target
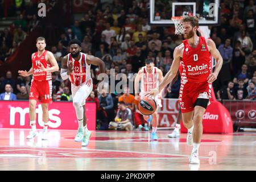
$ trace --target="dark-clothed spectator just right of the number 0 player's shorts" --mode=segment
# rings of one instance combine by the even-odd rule
[[[234,82],[229,81],[228,86],[223,86],[217,92],[218,100],[233,100],[235,98]]]

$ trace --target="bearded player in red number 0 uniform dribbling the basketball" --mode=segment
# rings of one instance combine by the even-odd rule
[[[203,135],[203,115],[209,105],[210,89],[220,72],[223,60],[211,39],[196,35],[199,27],[198,19],[194,16],[185,16],[182,19],[184,28],[183,43],[174,50],[174,61],[170,71],[163,78],[159,87],[147,93],[146,96],[155,96],[169,82],[171,82],[183,65],[180,86],[180,107],[184,126],[188,129],[187,144],[193,145],[189,158],[191,164],[199,164],[199,146]],[[212,72],[210,55],[216,59],[216,67]]]

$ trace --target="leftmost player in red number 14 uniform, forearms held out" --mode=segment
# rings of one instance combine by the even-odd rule
[[[52,52],[47,51],[46,39],[39,37],[36,39],[36,47],[38,52],[32,53],[32,67],[27,71],[18,71],[20,76],[26,77],[33,75],[30,87],[30,126],[31,131],[27,139],[32,139],[38,135],[36,131],[36,102],[41,101],[43,109],[43,122],[44,129],[42,139],[47,140],[47,127],[48,127],[48,105],[52,102],[52,75],[51,72],[59,71],[59,66]]]

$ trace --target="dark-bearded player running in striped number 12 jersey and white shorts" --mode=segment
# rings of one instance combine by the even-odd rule
[[[71,92],[73,106],[76,110],[76,117],[79,123],[76,142],[82,142],[82,146],[89,144],[92,135],[86,125],[85,100],[93,89],[93,82],[90,76],[90,65],[98,65],[100,72],[105,73],[105,63],[98,57],[86,55],[81,52],[81,42],[73,39],[69,42],[69,53],[61,61],[61,78],[71,81]]]

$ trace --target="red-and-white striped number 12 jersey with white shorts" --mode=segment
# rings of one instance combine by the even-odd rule
[[[69,75],[71,81],[72,98],[74,101],[82,101],[85,105],[86,98],[90,95],[93,89],[93,82],[90,76],[90,65],[87,64],[86,54],[80,53],[80,60],[75,60],[68,54],[67,65],[72,61],[74,65],[73,72]]]

